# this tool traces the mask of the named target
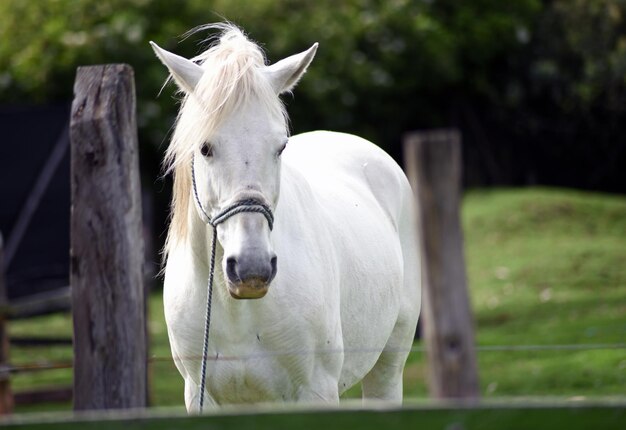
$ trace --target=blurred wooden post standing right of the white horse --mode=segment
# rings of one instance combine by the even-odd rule
[[[460,135],[456,130],[410,133],[404,155],[419,207],[430,393],[475,398],[478,372],[460,222]]]

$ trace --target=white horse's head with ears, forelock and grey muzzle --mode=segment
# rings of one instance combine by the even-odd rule
[[[175,175],[172,223],[189,222],[177,208],[185,202],[195,202],[195,215],[205,221],[241,201],[273,210],[288,138],[278,96],[295,86],[317,44],[271,66],[256,44],[230,26],[218,44],[193,60],[152,47],[185,94],[166,156]],[[172,228],[180,226],[170,227],[170,237]],[[220,223],[217,232],[231,296],[263,297],[277,272],[269,220],[242,212]]]

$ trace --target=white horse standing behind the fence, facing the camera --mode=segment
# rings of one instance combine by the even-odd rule
[[[364,399],[401,402],[420,311],[409,183],[364,139],[288,136],[279,94],[317,44],[267,66],[241,30],[217,27],[219,40],[192,60],[152,44],[184,94],[166,154],[164,302],[187,409],[200,397],[207,218],[242,200],[275,221],[271,231],[271,214],[243,212],[217,226],[207,403],[338,402],[360,381]]]

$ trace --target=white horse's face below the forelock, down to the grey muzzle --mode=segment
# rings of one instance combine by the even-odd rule
[[[261,103],[252,101],[225,119],[194,155],[199,200],[210,208],[210,215],[243,200],[256,200],[274,209],[286,143],[284,119],[273,117]],[[239,213],[219,224],[217,232],[230,294],[238,299],[263,297],[277,271],[265,217]]]

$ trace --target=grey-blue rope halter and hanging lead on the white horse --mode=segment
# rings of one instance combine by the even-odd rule
[[[215,274],[215,249],[217,247],[217,226],[232,217],[242,212],[260,213],[263,214],[267,220],[267,224],[270,230],[274,228],[274,214],[269,206],[263,204],[256,199],[244,199],[233,203],[219,212],[214,218],[211,218],[204,210],[200,197],[198,196],[198,189],[196,187],[196,172],[194,168],[194,159],[191,159],[191,182],[193,185],[193,194],[196,198],[198,207],[206,217],[206,223],[213,227],[213,235],[211,237],[211,261],[209,265],[209,281],[207,286],[207,308],[206,316],[204,320],[204,344],[202,347],[202,370],[200,374],[200,399],[199,406],[200,412],[204,406],[204,387],[206,386],[206,363],[209,355],[209,330],[211,328],[211,302],[213,296],[213,277]]]

